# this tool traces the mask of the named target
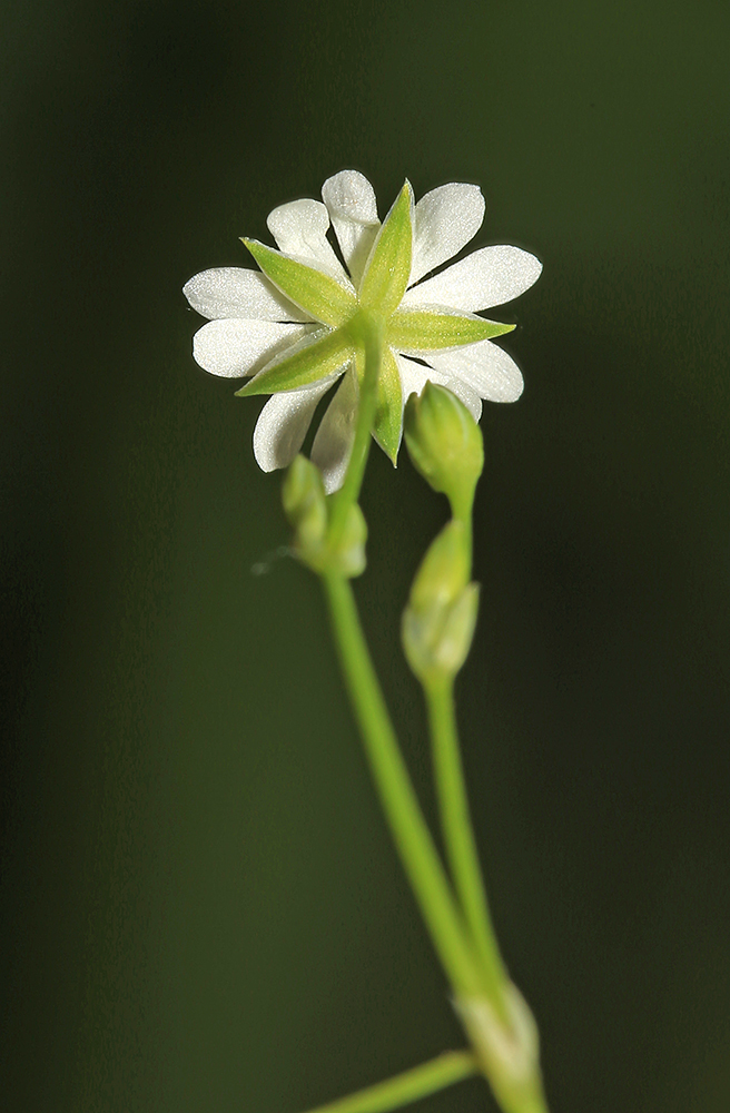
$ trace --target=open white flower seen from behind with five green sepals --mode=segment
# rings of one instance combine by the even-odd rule
[[[328,178],[322,196],[324,204],[305,198],[269,214],[278,252],[244,240],[266,274],[204,270],[184,292],[208,317],[194,338],[197,363],[214,375],[253,376],[239,393],[273,395],[254,434],[264,471],[292,462],[317,403],[342,380],[312,447],[332,492],[343,482],[354,435],[362,362],[347,323],[358,309],[367,304],[386,321],[373,435],[395,463],[403,407],[426,381],[451,390],[475,420],[482,398],[520,396],[520,368],[492,343],[514,326],[476,313],[517,297],[542,265],[517,247],[483,247],[422,280],[479,232],[485,207],[479,186],[440,186],[414,206],[406,183],[383,225],[373,187],[356,170]],[[347,270],[327,238],[331,224]]]

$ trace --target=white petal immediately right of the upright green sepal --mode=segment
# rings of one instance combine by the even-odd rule
[[[411,283],[451,259],[482,227],[484,198],[479,186],[452,181],[422,197],[414,214]]]

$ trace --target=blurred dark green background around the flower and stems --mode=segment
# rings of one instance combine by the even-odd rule
[[[280,475],[180,293],[342,168],[475,181],[499,316],[460,684],[494,916],[554,1113],[730,1104],[730,11],[639,0],[28,0],[2,85],[2,1091],[12,1113],[302,1113],[463,1037]],[[444,503],[374,451],[397,622]],[[423,1102],[494,1106],[484,1084]]]

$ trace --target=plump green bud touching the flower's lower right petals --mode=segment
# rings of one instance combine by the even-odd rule
[[[427,483],[445,494],[457,518],[471,513],[476,481],[484,467],[479,425],[463,402],[435,383],[405,407],[405,443],[414,466]]]

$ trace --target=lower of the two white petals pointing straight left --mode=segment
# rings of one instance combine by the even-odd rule
[[[240,378],[309,332],[309,325],[274,321],[209,321],[193,337],[193,356],[211,375]]]

